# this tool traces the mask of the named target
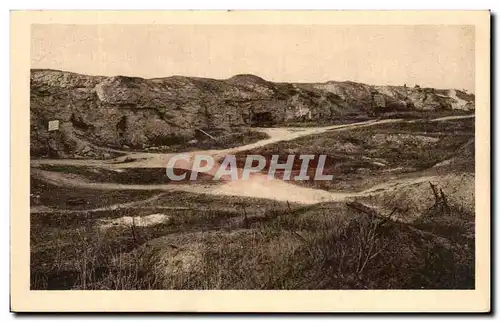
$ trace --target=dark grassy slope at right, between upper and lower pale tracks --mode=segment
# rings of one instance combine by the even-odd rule
[[[312,180],[315,173],[312,162],[308,172],[311,180],[292,182],[325,190],[363,190],[388,179],[429,170],[455,156],[470,140],[474,140],[474,119],[393,123],[279,142],[240,153],[238,159],[243,164],[246,155],[259,154],[270,158],[278,154],[280,162],[285,163],[287,156],[294,154],[294,169],[298,171],[301,165],[299,155],[312,154],[317,160],[324,154],[327,159],[323,173],[333,175],[333,180]],[[448,170],[473,172],[473,152],[468,157]],[[266,169],[268,167],[264,171]]]

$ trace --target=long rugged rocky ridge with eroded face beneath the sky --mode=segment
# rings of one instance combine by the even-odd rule
[[[385,98],[384,111],[473,109],[474,104],[473,96],[460,91],[450,96],[447,91],[352,82],[272,83],[254,75],[227,80],[143,79],[32,70],[31,154],[106,158],[112,153],[109,148],[187,142],[197,135],[197,129],[220,133],[240,126],[325,122],[376,110],[375,94]],[[59,120],[59,130],[48,132],[51,120]]]

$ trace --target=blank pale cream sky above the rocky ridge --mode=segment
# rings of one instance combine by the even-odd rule
[[[32,68],[89,75],[351,80],[474,92],[474,27],[33,25]]]

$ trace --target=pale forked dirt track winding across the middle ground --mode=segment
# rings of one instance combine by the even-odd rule
[[[467,116],[451,116],[434,119],[434,121],[445,121],[452,119],[461,119],[474,117]],[[314,135],[326,131],[341,131],[345,129],[353,129],[365,126],[372,126],[384,123],[403,122],[404,120],[381,120],[367,121],[347,125],[332,125],[318,128],[269,128],[261,129],[269,134],[270,138],[264,139],[252,144],[224,149],[224,150],[206,150],[186,153],[191,157],[195,154],[212,155],[216,158],[223,157],[227,154],[235,154],[242,151],[252,150],[258,147],[263,147],[268,144],[273,144],[280,141],[290,141],[306,135]],[[32,160],[32,165],[73,165],[73,166],[94,166],[94,167],[109,167],[109,168],[163,168],[173,154],[156,154],[156,153],[130,153],[125,157],[120,157],[111,161],[104,160]],[[133,159],[130,162],[121,163],[126,158]],[[329,192],[320,189],[301,187],[282,181],[279,179],[268,179],[266,175],[256,173],[248,180],[234,180],[221,182],[219,184],[118,184],[118,183],[100,183],[88,182],[79,180],[75,176],[68,176],[65,173],[44,171],[41,169],[32,168],[32,175],[44,181],[63,185],[68,187],[92,188],[97,190],[158,190],[158,191],[185,191],[191,193],[208,194],[216,196],[240,196],[249,198],[265,198],[274,199],[277,201],[289,201],[301,204],[315,204],[328,201],[343,201],[350,198],[374,195],[388,190],[395,190],[403,186],[408,186],[420,182],[425,182],[434,179],[435,177],[419,177],[407,178],[386,182],[361,192]],[[161,196],[161,195],[160,195]],[[160,198],[158,196],[158,198]],[[138,203],[138,202],[136,202]],[[125,207],[130,207],[134,203],[128,203]],[[117,206],[117,205],[115,205]],[[123,205],[122,205],[123,206]],[[100,211],[108,209],[106,207],[98,208]]]

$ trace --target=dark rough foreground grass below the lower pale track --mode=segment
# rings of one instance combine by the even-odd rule
[[[343,203],[201,204],[34,214],[31,289],[474,287],[473,216],[456,209],[402,224]],[[100,227],[103,218],[158,211],[169,220]]]

